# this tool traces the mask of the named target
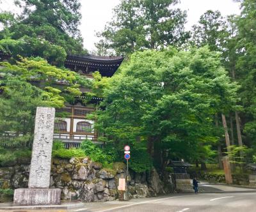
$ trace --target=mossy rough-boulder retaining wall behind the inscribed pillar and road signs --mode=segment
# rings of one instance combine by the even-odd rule
[[[2,189],[28,188],[28,178],[28,164],[0,167]],[[61,199],[83,202],[113,201],[119,198],[117,190],[119,178],[126,178],[124,163],[114,163],[113,169],[103,169],[101,163],[93,162],[88,157],[70,160],[52,159],[50,186],[61,188]],[[173,185],[163,183],[155,169],[142,174],[130,172],[129,178],[131,198],[173,192]]]

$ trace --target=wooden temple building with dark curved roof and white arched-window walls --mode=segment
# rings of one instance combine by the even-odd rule
[[[0,52],[0,61],[8,60],[10,56]],[[123,56],[94,56],[88,54],[86,56],[67,56],[65,67],[83,75],[87,79],[93,79],[93,72],[98,71],[102,77],[112,77],[122,61]],[[40,82],[33,82],[35,86]],[[61,82],[60,82],[61,84]],[[82,93],[90,91],[84,87],[80,88]],[[94,121],[86,119],[88,114],[95,110],[95,103],[99,103],[100,98],[92,98],[91,102],[83,103],[79,101],[82,96],[77,96],[76,105],[66,103],[62,109],[56,109],[56,121],[54,123],[54,139],[62,140],[65,148],[78,148],[84,139],[97,141],[97,132],[93,125]],[[64,117],[58,117],[59,113],[67,114]]]

